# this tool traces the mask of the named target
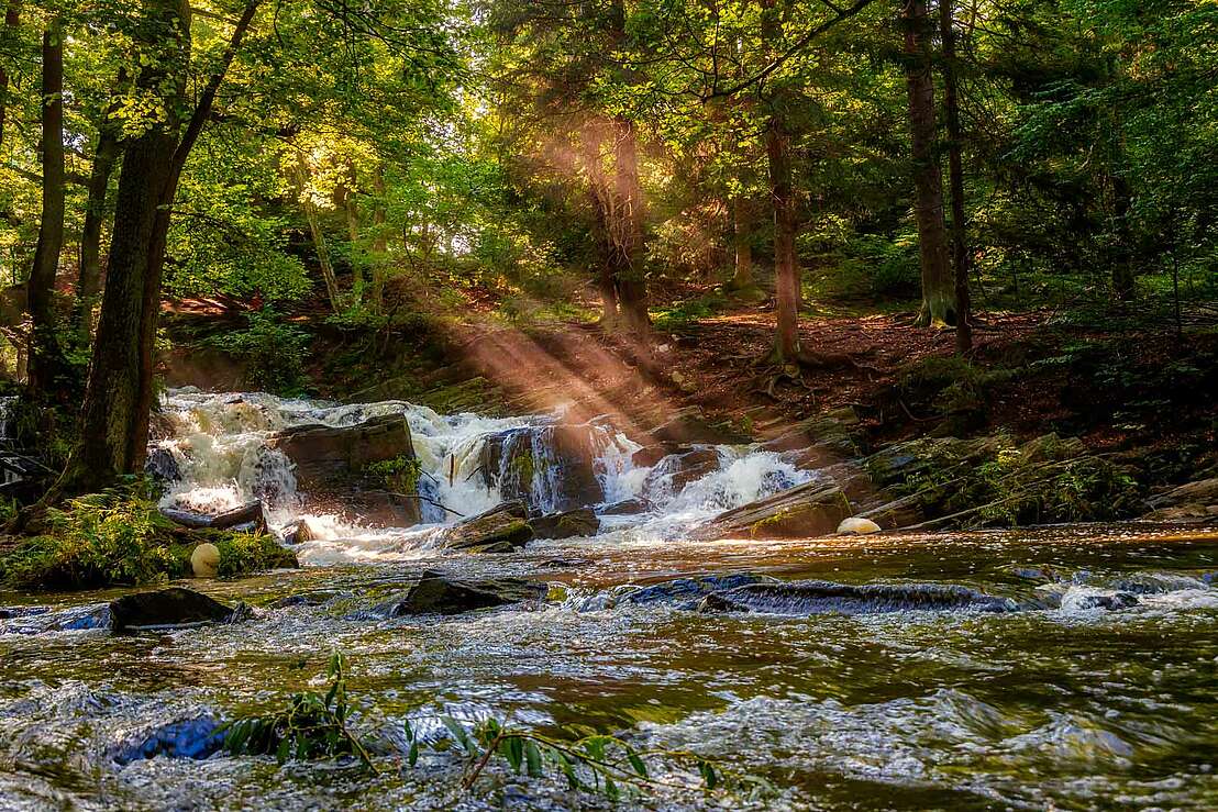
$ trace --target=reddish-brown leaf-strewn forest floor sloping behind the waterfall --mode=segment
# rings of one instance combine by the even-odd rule
[[[1058,432],[1096,450],[1168,458],[1155,477],[1166,481],[1218,463],[1207,394],[1218,391],[1218,330],[1207,313],[1178,335],[1161,320],[982,310],[966,363],[954,357],[954,331],[915,327],[907,309],[837,308],[803,314],[801,340],[849,360],[793,374],[760,360],[775,335],[767,302],[720,301],[710,312],[658,319],[648,346],[587,321],[509,323],[493,315],[485,291],[469,304],[457,315],[447,309],[376,331],[326,324],[320,303],[306,307],[294,320],[312,334],[309,388],[337,399],[410,399],[440,411],[566,408],[575,419],[610,415],[636,435],[691,407],[761,438],[851,407],[867,446],[921,435]],[[242,307],[175,303],[168,323],[179,335],[231,330]],[[234,359],[178,343],[167,358],[171,385],[255,388]]]

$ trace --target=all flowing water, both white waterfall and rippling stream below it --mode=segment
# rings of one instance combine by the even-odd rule
[[[535,541],[512,555],[438,549],[436,523],[363,526],[309,513],[270,432],[402,414],[435,502],[476,513],[498,502],[479,475],[482,444],[533,442],[553,416],[442,416],[406,403],[334,405],[262,394],[178,391],[161,444],[183,480],[177,505],[267,499],[272,522],[304,516],[306,566],[197,582],[245,600],[253,620],[155,634],[55,631],[123,590],[0,593],[0,808],[587,808],[565,782],[495,769],[471,791],[462,763],[392,754],[368,775],[347,763],[270,758],[119,758],[166,724],[266,710],[324,684],[331,649],[352,663],[357,724],[384,740],[412,719],[487,716],[561,734],[594,729],[641,747],[692,750],[769,779],[761,799],[699,791],[663,758],[671,786],[644,808],[1216,808],[1218,807],[1218,532],[1068,526],[801,542],[694,542],[716,513],[808,481],[776,454],[719,448],[717,470],[674,487],[670,463],[636,467],[637,446],[598,429],[607,516],[591,538]],[[514,432],[514,433],[513,433]],[[544,448],[533,448],[546,460]],[[454,461],[456,460],[456,461]],[[507,474],[501,471],[499,474]],[[533,466],[535,506],[558,498]],[[491,477],[492,480],[495,477]],[[502,477],[501,477],[502,478]],[[501,483],[502,485],[502,483]],[[351,612],[409,573],[519,575],[551,584],[537,605],[451,617]],[[1019,611],[794,601],[777,611],[700,614],[680,600],[631,600],[631,586],[750,572],[783,581],[967,587]],[[274,609],[330,590],[324,605]],[[864,590],[865,592],[865,590]],[[1121,600],[1112,600],[1114,595]],[[1107,609],[1105,606],[1108,606]],[[832,609],[832,606],[829,606]],[[814,612],[814,614],[809,614]],[[0,615],[2,617],[2,615]],[[582,728],[580,728],[582,726]]]

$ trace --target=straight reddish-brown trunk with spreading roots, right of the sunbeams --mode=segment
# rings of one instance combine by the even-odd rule
[[[790,186],[790,135],[778,114],[766,127],[770,197],[773,205],[773,268],[778,334],[775,359],[797,360],[799,347],[799,264],[795,259],[795,201]]]

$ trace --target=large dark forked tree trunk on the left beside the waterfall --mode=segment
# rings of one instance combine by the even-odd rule
[[[136,85],[161,100],[164,112],[150,121],[147,129],[128,141],[123,151],[106,290],[80,410],[80,437],[63,476],[44,504],[107,487],[118,476],[135,474],[143,466],[155,392],[153,338],[169,211],[186,159],[211,117],[219,85],[258,5],[259,0],[247,0],[220,63],[179,138],[175,111],[180,107],[190,63],[190,6],[186,0],[144,2],[151,24],[136,47],[157,52],[160,58],[141,71]]]

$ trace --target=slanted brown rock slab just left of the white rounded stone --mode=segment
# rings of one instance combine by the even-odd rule
[[[832,533],[854,511],[842,489],[821,480],[750,502],[698,528],[697,538],[811,538]]]

